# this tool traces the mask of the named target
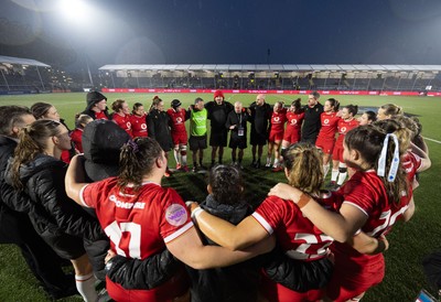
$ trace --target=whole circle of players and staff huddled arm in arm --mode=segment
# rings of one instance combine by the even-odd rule
[[[400,107],[356,118],[357,106],[319,99],[258,95],[246,108],[216,90],[187,109],[157,96],[148,112],[118,99],[109,114],[92,91],[74,131],[50,104],[2,106],[0,224],[20,227],[1,242],[19,246],[54,299],[98,301],[98,280],[115,301],[358,301],[381,282],[387,234],[412,217],[431,162]],[[287,177],[256,208],[243,194],[248,133],[252,168]],[[171,151],[190,171],[187,145],[192,171],[208,175],[200,204],[161,185]]]

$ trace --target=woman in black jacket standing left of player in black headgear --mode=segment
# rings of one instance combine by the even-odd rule
[[[165,157],[173,148],[172,134],[170,132],[170,117],[164,110],[164,103],[158,96],[153,98],[153,104],[147,116],[147,129],[149,137],[158,141]],[[166,169],[164,176],[170,176],[170,170]]]

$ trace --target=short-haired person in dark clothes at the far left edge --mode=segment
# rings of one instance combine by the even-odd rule
[[[35,233],[26,208],[4,181],[4,171],[17,147],[18,132],[33,122],[32,112],[20,106],[0,107],[0,242],[17,245],[31,272],[52,299],[77,294],[75,282],[63,272],[61,259]]]

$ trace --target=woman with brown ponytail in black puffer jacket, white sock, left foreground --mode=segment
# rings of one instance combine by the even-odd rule
[[[41,119],[23,128],[19,139],[6,181],[30,199],[28,214],[36,233],[73,263],[83,299],[96,301],[95,277],[83,240],[101,238],[104,233],[96,219],[67,197],[67,166],[60,160],[62,151],[71,148],[67,129],[58,121]]]

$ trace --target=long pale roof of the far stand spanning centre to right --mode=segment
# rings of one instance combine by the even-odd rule
[[[211,72],[441,72],[441,65],[353,64],[116,64],[100,71],[211,71]]]

